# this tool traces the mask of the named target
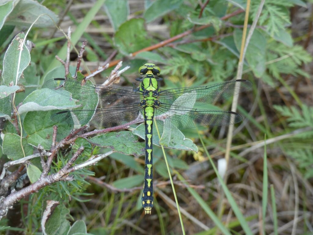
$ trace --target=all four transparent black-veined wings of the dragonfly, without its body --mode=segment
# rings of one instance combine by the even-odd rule
[[[80,99],[95,92],[99,94],[97,109],[58,112],[52,115],[51,119],[59,123],[82,125],[90,123],[90,125],[110,128],[135,120],[141,116],[143,109],[139,104],[142,92],[132,88],[90,85],[63,78],[51,79],[46,82],[46,86],[65,96],[71,97],[72,93],[73,98],[75,92],[80,92]],[[158,97],[161,105],[155,107],[154,116],[162,120],[160,123],[165,127],[178,129],[238,123],[242,120],[238,113],[197,109],[193,106],[213,103],[237,95],[251,86],[252,83],[249,81],[234,80],[213,86],[184,87],[161,91]]]

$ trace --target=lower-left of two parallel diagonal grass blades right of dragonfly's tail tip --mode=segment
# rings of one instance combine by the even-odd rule
[[[174,171],[174,172],[176,173],[178,179],[187,185],[186,180],[182,177],[182,175],[180,175],[177,171]],[[228,229],[218,219],[218,217],[214,214],[214,212],[211,210],[211,208],[208,206],[208,204],[202,199],[202,197],[191,187],[187,187],[187,190],[194,197],[194,199],[196,201],[198,201],[199,205],[208,214],[208,216],[213,220],[213,222],[221,230],[221,232],[223,232],[223,234],[226,234],[226,235],[231,235],[231,233],[228,231]]]

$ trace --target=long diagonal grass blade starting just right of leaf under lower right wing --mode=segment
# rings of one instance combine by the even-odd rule
[[[233,209],[233,212],[235,213],[237,219],[240,222],[241,227],[243,228],[245,234],[253,234],[251,229],[249,228],[249,225],[248,225],[247,221],[244,218],[244,215],[241,213],[241,211],[240,211],[238,205],[236,204],[233,196],[231,195],[230,191],[228,190],[226,184],[224,183],[224,180],[219,175],[218,170],[216,169],[216,167],[215,167],[215,165],[213,163],[213,160],[212,160],[212,158],[210,157],[210,155],[208,153],[208,150],[205,148],[205,145],[203,143],[203,139],[201,138],[200,134],[199,134],[199,139],[200,139],[200,141],[201,141],[201,143],[203,145],[204,151],[206,152],[206,154],[208,156],[208,159],[210,160],[210,163],[212,164],[213,170],[215,171],[215,174],[218,177],[218,181],[222,185],[222,188],[223,188],[223,191],[225,193],[225,196],[227,197],[228,202],[229,202],[230,206]]]

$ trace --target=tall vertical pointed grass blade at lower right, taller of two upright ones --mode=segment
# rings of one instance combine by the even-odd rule
[[[266,139],[266,137],[265,137]],[[265,142],[264,139],[264,142]],[[266,154],[266,143],[264,144],[264,159],[263,159],[263,193],[262,193],[262,227],[263,234],[265,235],[265,217],[266,217],[266,206],[267,206],[267,194],[268,194],[268,175],[267,175],[267,154]]]

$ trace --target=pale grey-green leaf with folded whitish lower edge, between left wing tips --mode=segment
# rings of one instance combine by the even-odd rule
[[[70,96],[69,92],[68,94]],[[24,113],[79,107],[76,104],[78,100],[72,99],[69,96],[64,96],[50,89],[35,90],[25,98],[23,104],[18,108],[18,112]]]

